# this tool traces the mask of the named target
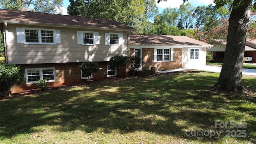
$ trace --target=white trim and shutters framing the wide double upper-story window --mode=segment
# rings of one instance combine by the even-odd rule
[[[22,30],[18,30],[20,28],[16,28],[17,30],[17,42],[23,44],[60,44],[60,30],[54,29],[45,29],[45,28],[22,28]],[[25,30],[38,30],[38,42],[26,42],[26,32]],[[50,30],[53,31],[53,42],[42,42],[41,30]],[[21,40],[22,38],[22,40]]]

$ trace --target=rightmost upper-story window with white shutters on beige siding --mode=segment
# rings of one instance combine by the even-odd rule
[[[124,34],[121,33],[105,33],[105,45],[119,46],[124,44]]]

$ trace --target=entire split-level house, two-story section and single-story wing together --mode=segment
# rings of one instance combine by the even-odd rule
[[[133,28],[115,20],[0,9],[5,60],[25,69],[26,80],[12,93],[37,88],[40,78],[49,86],[83,82],[83,62],[97,62],[93,79],[116,76],[108,65],[112,56],[140,56],[141,68],[158,70],[206,64],[206,44],[186,36],[132,34]],[[128,72],[128,70],[126,70]]]

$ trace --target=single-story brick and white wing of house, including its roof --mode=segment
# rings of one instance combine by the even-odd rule
[[[211,44],[187,36],[130,34],[130,55],[142,58],[141,69],[205,66]]]

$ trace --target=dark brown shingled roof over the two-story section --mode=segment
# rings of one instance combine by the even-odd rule
[[[67,16],[61,14],[47,14],[40,12],[29,12],[19,10],[0,9],[0,22],[20,23],[20,24],[40,24],[69,27],[88,27],[115,30],[131,30],[134,28],[126,26],[116,20],[101,18],[86,18],[80,16]]]

